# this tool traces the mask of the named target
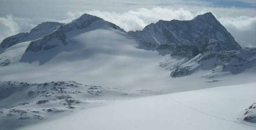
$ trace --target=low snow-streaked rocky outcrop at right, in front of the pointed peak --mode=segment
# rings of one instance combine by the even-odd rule
[[[166,67],[166,62],[160,66]],[[235,51],[226,51],[219,41],[210,39],[202,48],[200,53],[190,60],[169,67],[171,77],[182,77],[190,75],[198,69],[211,70],[211,73],[203,76],[213,78],[220,72],[231,72],[238,74],[246,68],[256,65],[256,48],[243,48]]]

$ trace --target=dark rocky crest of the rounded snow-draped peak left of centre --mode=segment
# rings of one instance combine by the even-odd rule
[[[93,22],[101,22],[98,27],[94,26],[91,28],[87,28],[89,27]],[[82,30],[82,29],[89,29],[86,31],[90,31],[90,30],[95,30],[97,28],[100,28],[101,26],[104,27],[110,27],[113,29],[117,29],[121,32],[125,32],[123,29],[121,29],[120,27],[118,27],[117,25],[111,23],[111,22],[107,22],[104,21],[103,19],[93,16],[93,15],[89,15],[89,14],[83,14],[81,17],[75,19],[74,21],[61,25],[59,26],[53,33],[51,33],[50,35],[47,35],[41,39],[32,41],[28,48],[26,49],[26,52],[37,52],[37,51],[41,51],[41,50],[49,50],[55,47],[59,47],[59,46],[66,46],[69,41],[66,40],[67,36],[66,33],[74,31],[74,30]],[[81,33],[84,33],[85,31],[81,31]],[[125,32],[126,33],[126,32]],[[78,34],[76,34],[78,35]],[[61,43],[50,43],[51,40],[58,40]]]

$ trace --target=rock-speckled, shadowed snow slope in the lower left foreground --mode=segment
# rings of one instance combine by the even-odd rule
[[[15,129],[51,120],[54,115],[79,112],[116,100],[166,94],[163,91],[128,91],[68,82],[43,84],[0,82],[0,129]]]

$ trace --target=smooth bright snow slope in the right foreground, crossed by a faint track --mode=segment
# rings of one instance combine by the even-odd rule
[[[255,85],[254,82],[116,101],[21,129],[255,130],[255,123],[243,120],[244,109],[255,102]]]

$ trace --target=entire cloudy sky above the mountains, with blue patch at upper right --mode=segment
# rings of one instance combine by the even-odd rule
[[[71,22],[88,13],[125,31],[159,20],[212,12],[242,47],[256,47],[256,0],[0,0],[0,42],[41,22]]]

